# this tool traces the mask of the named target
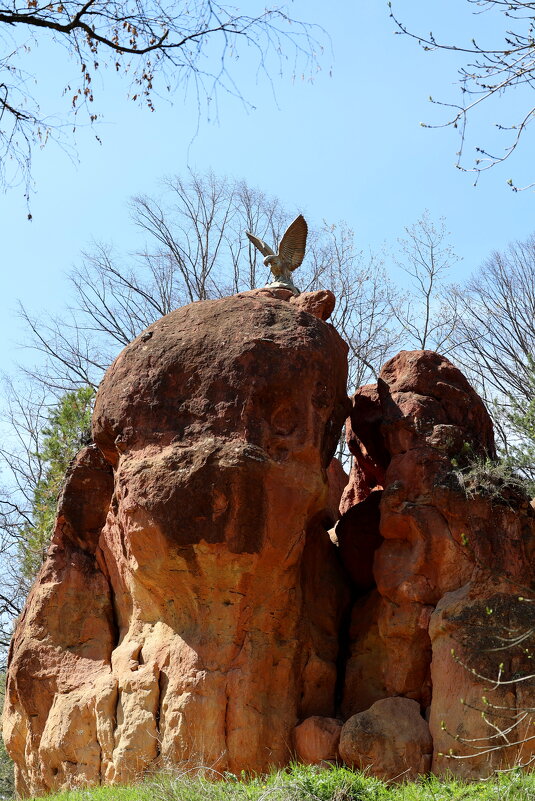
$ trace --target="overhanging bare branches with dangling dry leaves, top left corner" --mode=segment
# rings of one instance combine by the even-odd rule
[[[293,19],[284,7],[247,11],[213,0],[0,4],[0,183],[19,179],[27,189],[35,146],[50,138],[68,142],[81,110],[89,122],[98,119],[94,78],[105,69],[121,73],[128,96],[154,111],[155,98],[179,86],[193,90],[199,109],[217,105],[218,89],[241,98],[233,63],[246,52],[254,53],[268,80],[288,65],[290,71],[317,67],[322,31]],[[59,119],[33,96],[32,86],[39,92],[44,80],[27,73],[28,52],[37,44],[68,56],[66,108]]]

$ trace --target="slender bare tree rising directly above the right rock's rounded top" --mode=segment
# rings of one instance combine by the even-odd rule
[[[426,211],[399,240],[396,262],[409,276],[410,287],[401,301],[396,298],[392,314],[409,348],[426,348],[447,355],[458,324],[458,312],[448,293],[445,278],[458,261],[448,242],[444,220],[435,225]]]

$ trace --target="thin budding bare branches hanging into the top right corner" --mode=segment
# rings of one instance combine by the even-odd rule
[[[535,3],[525,0],[466,0],[474,7],[474,14],[497,14],[500,26],[498,45],[480,44],[471,38],[462,41],[442,42],[433,33],[423,35],[409,30],[393,10],[394,2],[389,2],[390,16],[397,26],[397,32],[415,39],[424,50],[448,50],[465,54],[468,63],[459,70],[461,100],[459,103],[435,101],[433,103],[448,109],[450,114],[440,125],[426,125],[428,128],[452,126],[460,132],[461,142],[457,152],[456,166],[475,173],[476,180],[485,170],[506,161],[517,149],[526,128],[535,118],[533,100],[529,94],[535,88]],[[396,4],[397,5],[397,4]],[[462,28],[460,28],[462,30]],[[465,141],[467,122],[473,110],[482,103],[500,102],[500,98],[511,90],[525,90],[521,95],[521,105],[515,107],[513,119],[496,124],[498,132],[507,136],[505,144],[476,147],[477,156],[470,165],[465,164]],[[512,179],[509,184],[516,191],[518,186]],[[530,184],[533,186],[533,184]],[[526,188],[526,187],[524,187]]]

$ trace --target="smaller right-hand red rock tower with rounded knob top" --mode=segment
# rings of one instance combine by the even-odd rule
[[[355,417],[359,404],[365,409],[362,431]],[[506,631],[511,638],[511,632],[529,633],[535,624],[529,605],[518,601],[533,587],[533,510],[521,493],[515,496],[507,487],[485,493],[477,480],[471,489],[463,487],[453,471],[468,458],[494,455],[492,424],[481,400],[447,359],[429,351],[402,352],[381,370],[376,390],[366,387],[357,394],[349,445],[358,469],[348,487],[353,482],[361,502],[342,515],[337,532],[343,532],[357,590],[364,584],[358,574],[355,581],[355,571],[369,564],[366,549],[359,559],[358,543],[373,528],[366,504],[376,484],[384,489],[377,524],[381,542],[371,571],[376,589],[358,597],[352,614],[344,716],[378,698],[402,696],[429,715],[434,770],[482,775],[491,766],[525,761],[534,751],[531,741],[506,753],[494,750],[496,731],[470,708],[481,708],[486,692],[481,676],[495,679],[500,662],[510,683],[494,694],[493,703],[506,710],[494,713],[494,722],[502,725],[515,716],[517,694],[524,705],[531,699],[535,706],[533,681],[514,681],[530,675],[520,643],[507,647],[505,658],[503,651]],[[381,481],[369,464],[372,451],[384,470]],[[487,608],[502,609],[501,620]],[[525,721],[516,727],[515,739],[524,730]],[[481,738],[477,749],[464,742],[476,737]],[[450,749],[474,756],[440,756]]]

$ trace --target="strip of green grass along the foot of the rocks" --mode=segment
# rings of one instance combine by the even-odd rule
[[[343,767],[294,765],[267,777],[161,773],[129,787],[70,790],[46,801],[535,801],[535,774],[513,771],[465,783],[436,777],[387,785]],[[37,799],[35,799],[37,801]]]

